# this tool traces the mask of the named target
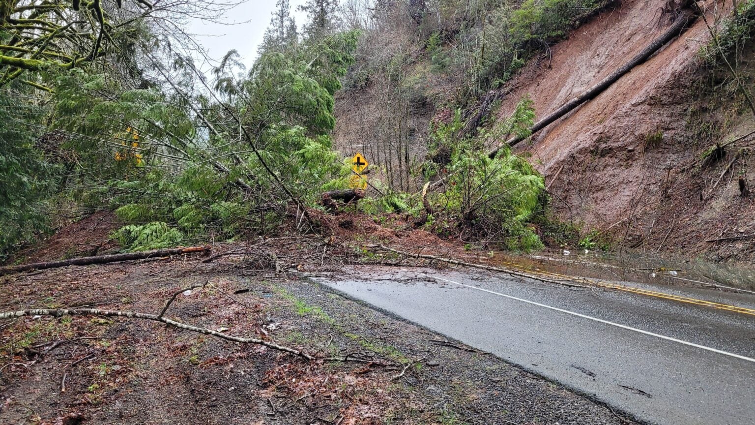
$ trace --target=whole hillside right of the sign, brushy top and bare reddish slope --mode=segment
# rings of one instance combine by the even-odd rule
[[[337,148],[361,146],[393,188],[421,186],[411,176],[451,158],[436,130],[455,116],[455,138],[480,149],[520,139],[509,120],[522,104],[538,121],[681,23],[649,59],[516,145],[547,187],[529,226],[552,247],[751,258],[740,187],[753,139],[752,2],[450,5],[368,29],[337,94]]]

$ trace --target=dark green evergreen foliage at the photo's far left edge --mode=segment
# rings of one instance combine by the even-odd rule
[[[35,147],[43,111],[0,92],[0,261],[15,244],[48,231],[47,202],[55,187],[51,166]]]

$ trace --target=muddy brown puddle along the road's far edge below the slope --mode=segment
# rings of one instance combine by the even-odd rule
[[[721,285],[755,290],[755,268],[630,251],[545,250],[531,255],[495,252],[487,262],[502,267],[516,266],[531,271],[609,281],[698,287]]]

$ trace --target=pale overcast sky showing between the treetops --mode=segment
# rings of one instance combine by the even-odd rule
[[[299,28],[306,16],[296,8],[304,2],[306,0],[291,0],[291,14]],[[275,0],[247,0],[228,11],[223,18],[227,25],[196,19],[190,22],[188,32],[196,36],[213,59],[219,60],[227,51],[236,49],[248,68],[257,58],[257,46],[262,42],[275,7]]]

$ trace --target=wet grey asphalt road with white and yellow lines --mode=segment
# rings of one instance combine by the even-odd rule
[[[358,278],[316,280],[641,422],[755,423],[755,296],[627,284],[741,309],[735,312],[477,271],[354,268],[347,275]]]

